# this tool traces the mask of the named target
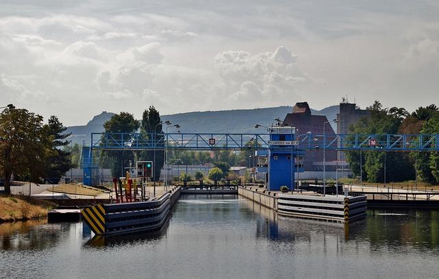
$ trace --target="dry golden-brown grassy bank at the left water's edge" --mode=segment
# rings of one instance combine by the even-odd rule
[[[47,217],[54,204],[27,196],[0,195],[0,223]]]

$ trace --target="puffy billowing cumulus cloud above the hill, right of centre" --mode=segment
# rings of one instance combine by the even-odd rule
[[[298,80],[307,75],[296,64],[297,57],[284,46],[274,52],[250,54],[224,51],[214,58],[215,69],[222,76],[230,101],[263,106],[279,100],[289,101],[300,94]]]

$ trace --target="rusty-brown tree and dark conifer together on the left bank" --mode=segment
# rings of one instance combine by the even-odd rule
[[[71,167],[67,128],[58,117],[47,123],[39,114],[23,108],[7,108],[0,113],[0,173],[5,193],[10,181],[58,183]]]

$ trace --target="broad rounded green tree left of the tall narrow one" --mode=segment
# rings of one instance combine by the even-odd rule
[[[114,134],[112,138],[119,141],[123,145],[130,143],[132,134],[137,132],[140,123],[134,119],[133,115],[128,112],[115,114],[110,120],[104,123],[104,129],[107,133],[124,133],[123,138],[120,134]],[[127,135],[128,134],[128,135]],[[102,141],[105,141],[103,138]],[[128,160],[134,158],[132,151],[104,151],[106,156],[112,158],[111,173],[115,177],[123,175],[123,167],[128,165]]]

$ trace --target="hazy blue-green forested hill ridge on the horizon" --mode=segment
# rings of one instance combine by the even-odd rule
[[[326,115],[328,119],[335,119],[339,112],[339,106],[329,106],[323,110],[312,110],[312,114]],[[255,124],[269,126],[274,123],[274,118],[283,119],[292,112],[291,106],[279,106],[276,108],[255,108],[251,110],[219,110],[205,112],[185,112],[178,114],[163,115],[163,121],[171,121],[180,124],[181,132],[206,132],[206,133],[251,133],[265,132],[254,128]],[[114,115],[112,112],[102,112],[93,117],[86,125],[71,126],[67,132],[73,134],[72,141],[81,143],[83,139],[89,139],[91,132],[103,132],[103,124]],[[168,130],[168,132],[174,132]]]

